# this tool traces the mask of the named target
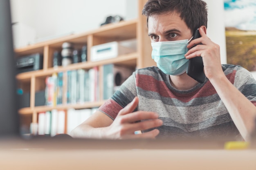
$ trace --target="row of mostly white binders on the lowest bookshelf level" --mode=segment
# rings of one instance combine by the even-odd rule
[[[37,135],[49,135],[51,137],[58,134],[68,134],[79,126],[83,121],[88,119],[98,108],[86,109],[68,109],[40,112],[38,113],[38,123],[36,132],[31,132]],[[35,125],[34,125],[35,127]]]

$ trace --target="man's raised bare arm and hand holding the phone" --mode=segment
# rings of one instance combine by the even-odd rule
[[[191,48],[194,44],[200,45],[190,49],[185,57],[190,59],[195,56],[202,56],[206,77],[225,104],[240,134],[248,141],[256,126],[256,106],[227,79],[221,67],[220,46],[206,36],[202,27],[199,29],[202,37],[193,40],[187,47]]]

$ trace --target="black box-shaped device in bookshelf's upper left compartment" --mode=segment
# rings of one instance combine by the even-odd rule
[[[35,53],[18,57],[16,60],[16,67],[18,73],[43,69],[43,55],[40,55],[40,53]]]

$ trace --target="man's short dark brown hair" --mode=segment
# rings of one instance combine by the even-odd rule
[[[177,12],[191,32],[204,25],[207,27],[207,4],[202,0],[148,0],[142,10],[142,15],[152,15]]]

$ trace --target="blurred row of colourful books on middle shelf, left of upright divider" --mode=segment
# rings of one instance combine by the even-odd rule
[[[98,67],[53,73],[45,79],[45,105],[78,104],[99,100]]]

